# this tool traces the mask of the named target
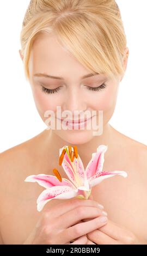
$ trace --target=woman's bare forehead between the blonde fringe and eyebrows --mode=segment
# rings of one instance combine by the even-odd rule
[[[29,70],[33,74],[46,72],[64,77],[71,72],[77,75],[77,71],[79,76],[89,74],[89,70],[59,44],[55,35],[47,34],[41,34],[35,39],[30,53]]]

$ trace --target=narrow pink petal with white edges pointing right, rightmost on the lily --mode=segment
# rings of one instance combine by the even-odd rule
[[[113,172],[102,172],[100,176],[95,174],[93,177],[89,179],[89,186],[90,188],[94,187],[97,184],[99,184],[101,181],[107,178],[111,178],[114,175],[121,175],[124,178],[127,177],[127,173],[124,170],[114,170]]]

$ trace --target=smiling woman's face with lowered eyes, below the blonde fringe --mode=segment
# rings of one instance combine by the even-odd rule
[[[47,74],[62,79],[36,74]],[[90,74],[89,70],[72,57],[56,41],[54,35],[42,34],[35,39],[29,60],[30,85],[36,108],[44,122],[47,120],[47,116],[44,116],[45,112],[53,111],[57,117],[57,106],[60,106],[62,119],[65,117],[68,119],[67,115],[62,116],[63,111],[70,111],[73,114],[69,119],[79,118],[78,115],[74,117],[75,110],[89,111],[92,117],[95,115],[92,111],[96,111],[96,124],[99,125],[98,111],[102,110],[103,126],[108,123],[114,112],[120,79],[108,79],[103,74],[83,78],[88,74]],[[92,90],[103,83],[106,87],[100,87],[97,91]],[[42,90],[43,87],[46,88],[45,92]],[[47,89],[57,89],[57,91],[48,93]],[[86,127],[84,130],[74,128],[52,130],[69,144],[87,143],[93,138],[93,131],[93,129],[87,130]]]

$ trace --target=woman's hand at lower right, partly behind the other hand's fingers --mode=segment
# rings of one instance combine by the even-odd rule
[[[90,195],[90,199],[93,196]],[[89,219],[90,220],[90,219]],[[88,221],[88,220],[83,220]],[[109,221],[101,228],[87,234],[87,245],[139,245],[144,244],[130,230]]]

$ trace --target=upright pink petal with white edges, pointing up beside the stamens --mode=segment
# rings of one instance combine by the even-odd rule
[[[87,179],[90,179],[95,174],[98,175],[102,172],[104,154],[107,151],[107,148],[107,145],[100,145],[97,148],[97,152],[92,154],[92,158],[85,169]]]

